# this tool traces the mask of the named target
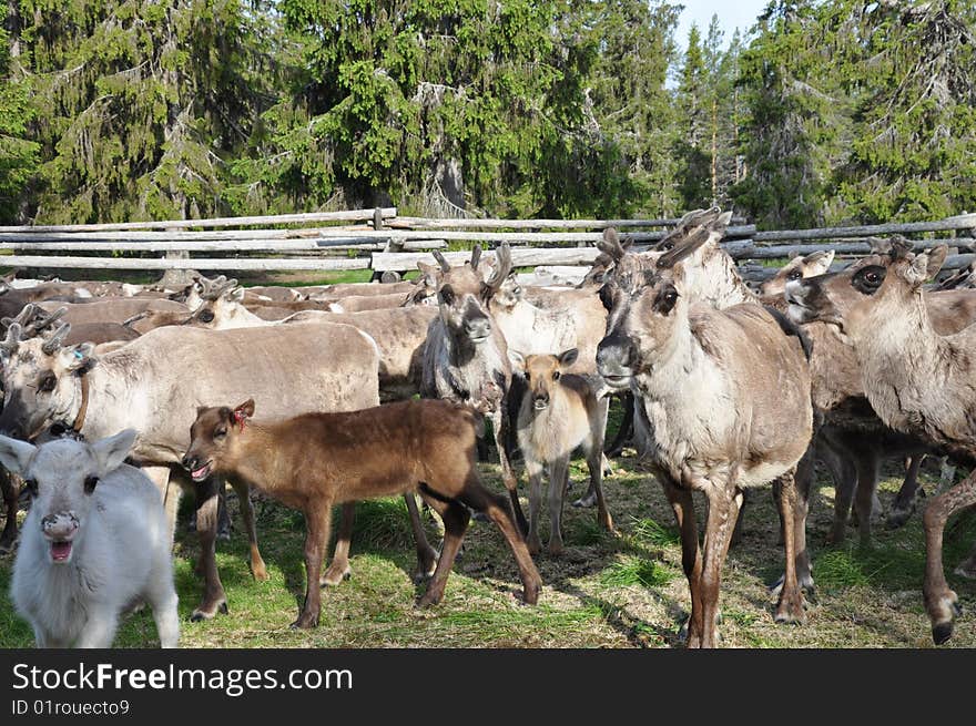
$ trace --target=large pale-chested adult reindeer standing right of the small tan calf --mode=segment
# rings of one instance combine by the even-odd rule
[[[806,451],[813,410],[810,371],[795,326],[759,305],[719,310],[691,304],[680,262],[713,234],[692,226],[655,262],[634,263],[613,296],[597,364],[611,388],[631,388],[649,457],[678,525],[691,590],[688,644],[716,644],[721,569],[744,488],[777,480],[785,577],[776,621],[802,621],[795,572],[793,473]],[[618,293],[620,289],[618,288]],[[612,290],[608,290],[608,294]],[[777,396],[766,392],[777,387]],[[704,555],[692,492],[709,501]]]

